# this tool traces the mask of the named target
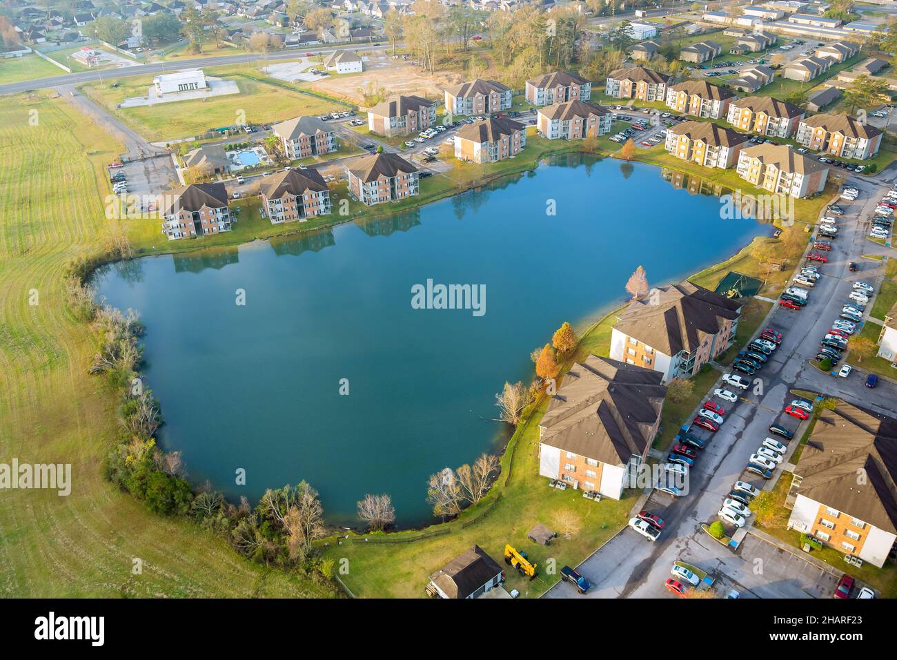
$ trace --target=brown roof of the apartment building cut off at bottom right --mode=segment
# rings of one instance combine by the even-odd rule
[[[799,495],[897,533],[897,420],[846,401],[823,409],[795,474]]]

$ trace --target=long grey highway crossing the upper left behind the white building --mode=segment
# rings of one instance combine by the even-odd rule
[[[339,50],[384,50],[387,45],[372,46],[370,44],[352,44],[338,48]],[[37,89],[56,89],[64,85],[74,85],[88,83],[93,80],[112,80],[114,78],[124,78],[129,75],[149,75],[159,74],[166,71],[179,71],[180,69],[194,68],[196,66],[220,66],[229,64],[248,64],[250,62],[266,61],[275,62],[278,60],[290,60],[302,57],[306,52],[313,52],[315,55],[327,55],[332,53],[336,48],[308,48],[297,50],[277,50],[264,55],[262,53],[245,53],[242,55],[228,55],[225,57],[196,57],[196,59],[185,59],[178,62],[155,62],[152,64],[144,64],[137,66],[126,66],[120,69],[104,70],[104,71],[84,71],[80,74],[55,75],[49,78],[39,78],[38,80],[26,80],[21,83],[0,84],[0,94],[14,94],[18,92],[27,92]]]

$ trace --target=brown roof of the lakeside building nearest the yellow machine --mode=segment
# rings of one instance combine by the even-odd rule
[[[541,442],[610,465],[642,455],[663,407],[662,379],[652,369],[588,356],[549,401]]]

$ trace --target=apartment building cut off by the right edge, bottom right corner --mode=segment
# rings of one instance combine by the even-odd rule
[[[820,409],[785,506],[788,529],[882,568],[897,541],[897,420],[839,400]]]

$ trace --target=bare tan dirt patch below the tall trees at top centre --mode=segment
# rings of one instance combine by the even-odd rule
[[[442,91],[464,82],[464,76],[450,72],[430,75],[419,66],[409,65],[392,57],[371,56],[364,63],[364,72],[359,75],[337,75],[327,77],[311,85],[311,89],[324,92],[355,104],[363,102],[363,90],[373,84],[383,87],[388,94],[416,94],[428,99],[442,99]]]

